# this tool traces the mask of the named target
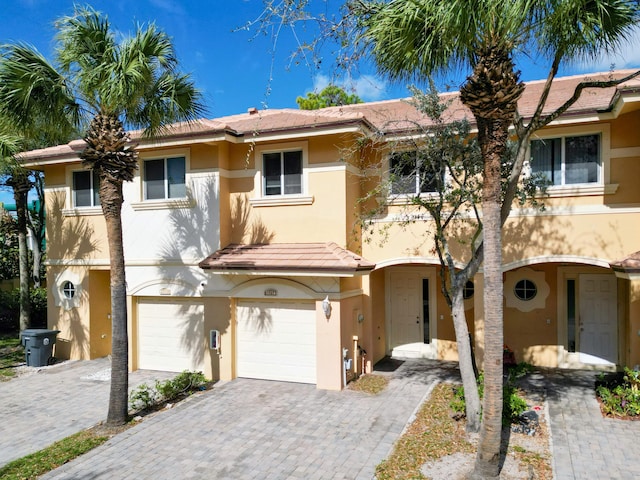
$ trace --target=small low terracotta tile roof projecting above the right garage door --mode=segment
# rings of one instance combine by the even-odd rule
[[[229,245],[209,255],[200,268],[227,271],[287,271],[354,274],[375,265],[349,250],[329,243]]]

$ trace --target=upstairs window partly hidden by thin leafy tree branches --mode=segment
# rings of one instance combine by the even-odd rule
[[[438,176],[443,172],[426,165],[415,151],[391,155],[391,193],[394,195],[419,195],[437,191]]]

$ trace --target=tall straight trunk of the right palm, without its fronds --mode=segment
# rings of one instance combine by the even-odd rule
[[[499,478],[502,434],[502,228],[500,166],[509,123],[478,119],[478,141],[484,160],[482,217],[484,233],[484,398],[483,419],[472,478]]]

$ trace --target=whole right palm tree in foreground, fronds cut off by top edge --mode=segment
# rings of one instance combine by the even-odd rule
[[[563,61],[594,57],[626,39],[638,20],[638,7],[630,0],[391,0],[353,5],[362,18],[362,39],[378,69],[392,79],[425,80],[455,68],[471,72],[460,97],[475,117],[484,165],[485,283],[485,390],[473,476],[497,478],[503,373],[500,167],[509,128],[519,121],[517,102],[524,89],[514,55],[527,51],[549,59],[550,86]],[[507,213],[509,209],[510,204]]]

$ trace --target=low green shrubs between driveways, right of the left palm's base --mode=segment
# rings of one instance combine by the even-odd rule
[[[193,392],[206,390],[211,386],[202,372],[184,371],[175,378],[156,380],[153,387],[143,383],[129,394],[129,408],[137,413],[156,411],[169,402],[181,400]]]

